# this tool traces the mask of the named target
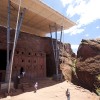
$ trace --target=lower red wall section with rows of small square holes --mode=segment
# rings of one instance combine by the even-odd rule
[[[19,48],[15,51],[13,78],[20,75],[20,69],[25,71],[25,77],[34,80],[35,78],[46,77],[46,54]]]

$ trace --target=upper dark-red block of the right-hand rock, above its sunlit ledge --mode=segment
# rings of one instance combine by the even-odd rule
[[[100,54],[100,43],[99,40],[97,42],[95,40],[82,40],[82,43],[79,46],[77,57],[81,58],[81,60],[85,60],[89,57],[94,57]]]

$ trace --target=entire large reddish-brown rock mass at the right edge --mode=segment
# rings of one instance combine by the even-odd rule
[[[77,52],[76,72],[83,87],[90,90],[100,87],[100,39],[82,40]]]

